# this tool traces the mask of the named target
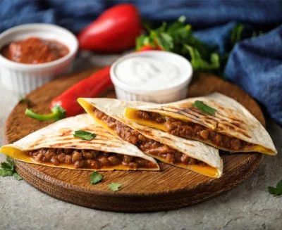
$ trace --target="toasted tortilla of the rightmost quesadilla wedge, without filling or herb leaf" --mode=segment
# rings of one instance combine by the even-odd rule
[[[202,113],[201,110],[193,107],[192,103],[195,103],[195,101],[202,101],[207,106],[216,109],[215,115]],[[239,139],[242,141],[240,143],[246,145],[240,147],[240,149],[234,149],[230,146],[226,148],[227,145],[221,146],[224,144],[216,144],[214,143],[216,141],[210,140],[210,137],[208,139],[207,137],[202,138],[200,135],[191,137],[191,139],[202,141],[224,151],[259,152],[269,155],[276,155],[277,153],[271,137],[262,124],[244,106],[223,94],[214,93],[209,96],[188,98],[183,101],[163,105],[129,106],[129,108],[126,108],[125,117],[128,119],[168,132],[168,129],[163,123],[142,120],[138,117],[137,111],[158,113],[162,117],[166,117],[165,119],[173,118],[187,122],[186,124],[191,124],[191,122],[200,124],[202,127],[207,127],[209,130],[216,132],[216,134],[223,134],[228,136],[228,138],[233,137]]]

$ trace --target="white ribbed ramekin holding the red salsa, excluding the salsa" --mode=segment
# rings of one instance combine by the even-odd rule
[[[58,75],[70,72],[78,51],[78,40],[74,34],[63,27],[44,23],[20,25],[6,30],[0,34],[0,49],[12,41],[28,37],[54,39],[65,44],[70,52],[63,58],[42,64],[16,63],[0,55],[1,82],[18,94],[28,94]]]

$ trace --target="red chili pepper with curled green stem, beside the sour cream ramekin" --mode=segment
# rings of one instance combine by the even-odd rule
[[[64,117],[71,117],[82,113],[83,108],[78,104],[78,98],[93,98],[99,96],[104,90],[113,87],[110,68],[111,66],[108,66],[95,72],[90,77],[74,84],[63,94],[54,98],[50,106],[52,113],[39,115],[27,108],[25,115],[37,120],[60,120]]]

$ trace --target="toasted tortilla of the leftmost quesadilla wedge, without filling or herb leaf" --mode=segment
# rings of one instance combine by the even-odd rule
[[[84,130],[86,132],[94,133],[97,136],[90,141],[85,141],[73,136],[77,130]],[[97,122],[94,122],[92,117],[87,114],[59,120],[58,122],[25,136],[23,139],[20,139],[13,144],[1,147],[0,151],[1,153],[11,156],[13,159],[23,162],[50,167],[75,169],[73,165],[66,163],[54,165],[50,162],[37,162],[25,153],[25,151],[41,148],[71,148],[75,150],[94,150],[105,153],[128,155],[148,160],[155,165],[155,167],[139,167],[137,170],[159,170],[159,165],[154,158],[145,155],[133,144],[123,141],[118,138],[118,136],[111,134],[111,132],[101,127]],[[111,165],[99,169],[78,168],[77,170],[111,171],[136,169],[128,167],[128,165]]]

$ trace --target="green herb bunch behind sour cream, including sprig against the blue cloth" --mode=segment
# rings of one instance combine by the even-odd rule
[[[207,46],[193,36],[192,27],[186,24],[185,20],[185,16],[181,16],[176,22],[170,25],[162,23],[161,27],[155,30],[145,25],[147,34],[137,37],[136,50],[164,50],[178,53],[190,60],[194,70],[222,75],[231,49],[241,40],[244,26],[234,27],[231,32],[230,51],[219,56],[219,52],[214,47]]]

